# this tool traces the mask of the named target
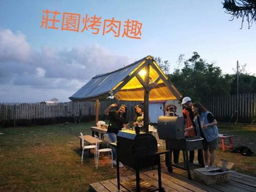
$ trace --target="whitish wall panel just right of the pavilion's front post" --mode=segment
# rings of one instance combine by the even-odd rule
[[[149,103],[148,115],[151,123],[157,123],[158,117],[163,115],[163,103]]]

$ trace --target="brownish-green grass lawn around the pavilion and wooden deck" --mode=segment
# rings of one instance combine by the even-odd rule
[[[80,132],[91,135],[94,123],[59,124],[0,129],[0,191],[86,191],[89,184],[116,178],[109,161],[96,170],[88,153],[81,164]],[[219,126],[220,133],[234,134],[234,145],[255,150],[255,127]],[[234,162],[234,169],[256,177],[256,155],[244,157],[217,150],[217,159]],[[196,159],[196,158],[195,158]],[[121,174],[132,173],[129,168]]]

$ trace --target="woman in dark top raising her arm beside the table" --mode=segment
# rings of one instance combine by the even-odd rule
[[[105,115],[110,116],[109,127],[106,133],[108,133],[111,142],[116,142],[117,133],[122,130],[122,127],[129,125],[129,121],[126,119],[127,106],[121,104],[118,111],[110,111],[111,108],[114,108],[115,106],[117,106],[116,103],[111,104],[103,112]],[[116,148],[114,148],[113,152],[113,164],[116,165]],[[119,162],[119,167],[123,167],[121,162]]]

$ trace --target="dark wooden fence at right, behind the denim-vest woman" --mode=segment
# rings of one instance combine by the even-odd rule
[[[214,96],[202,99],[202,104],[211,111],[219,122],[251,123],[256,114],[256,94]],[[232,117],[232,118],[231,118]]]

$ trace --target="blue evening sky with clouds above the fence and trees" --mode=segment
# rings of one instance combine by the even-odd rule
[[[240,29],[241,18],[230,21],[221,2],[0,0],[0,102],[70,101],[95,75],[147,55],[168,60],[170,72],[180,54],[188,59],[196,51],[223,73],[234,73],[238,60],[256,74],[256,25]],[[58,13],[54,26],[46,10],[52,20]],[[90,28],[94,16],[101,23]],[[109,25],[113,17],[119,34]],[[127,19],[135,33],[127,32]],[[74,20],[79,28],[67,25]]]

